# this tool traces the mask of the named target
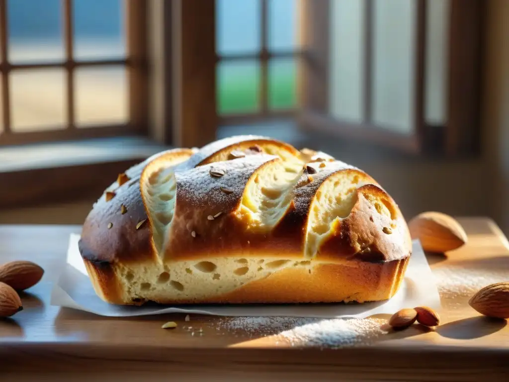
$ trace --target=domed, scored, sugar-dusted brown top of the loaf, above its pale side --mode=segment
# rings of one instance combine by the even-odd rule
[[[87,217],[84,258],[171,262],[283,251],[301,260],[384,262],[411,253],[392,198],[325,153],[247,135],[169,150],[135,170],[133,186],[109,187],[115,196],[103,195]]]

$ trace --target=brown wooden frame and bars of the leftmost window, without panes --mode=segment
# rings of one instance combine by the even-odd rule
[[[72,0],[63,0],[63,42],[65,59],[56,62],[30,64],[11,64],[8,58],[8,18],[7,0],[0,0],[0,72],[2,73],[2,108],[4,130],[0,133],[0,146],[44,141],[63,141],[83,138],[111,137],[117,135],[144,135],[148,132],[148,73],[147,73],[147,5],[144,0],[129,0],[126,7],[125,59],[77,61],[73,58]],[[75,77],[77,68],[99,66],[123,66],[127,70],[128,118],[126,124],[76,126],[74,116]],[[14,132],[11,124],[10,81],[13,70],[34,70],[61,68],[66,73],[66,112],[65,128],[40,131]]]

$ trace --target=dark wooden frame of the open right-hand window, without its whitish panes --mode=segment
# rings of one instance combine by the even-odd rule
[[[303,67],[299,124],[306,131],[321,131],[357,141],[375,142],[413,154],[472,155],[479,151],[483,0],[450,0],[447,34],[447,121],[427,124],[425,105],[426,2],[416,0],[416,67],[414,71],[414,133],[383,129],[371,120],[371,15],[373,2],[366,0],[364,40],[364,122],[348,123],[328,115],[329,10],[330,0],[303,2]]]

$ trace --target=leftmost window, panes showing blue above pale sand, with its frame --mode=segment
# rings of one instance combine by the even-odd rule
[[[0,144],[146,133],[143,0],[0,0]]]

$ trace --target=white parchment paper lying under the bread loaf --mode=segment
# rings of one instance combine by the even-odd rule
[[[96,295],[78,251],[78,240],[79,235],[71,234],[67,263],[51,291],[51,305],[73,308],[101,316],[128,317],[164,313],[194,313],[218,316],[365,318],[380,313],[392,314],[402,308],[440,307],[435,278],[419,241],[413,242],[413,254],[400,290],[388,301],[364,304],[125,307],[107,304]]]

